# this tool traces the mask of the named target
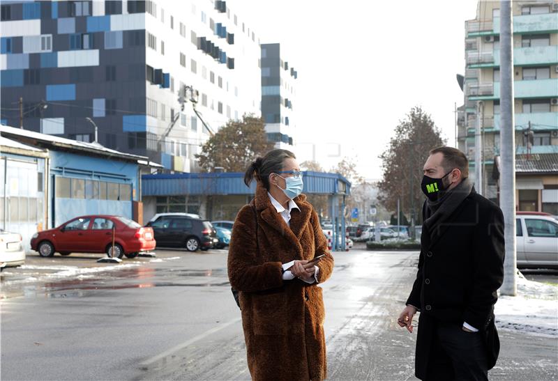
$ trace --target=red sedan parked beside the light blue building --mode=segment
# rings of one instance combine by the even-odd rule
[[[114,255],[112,231],[114,228]],[[155,249],[152,228],[144,228],[126,217],[92,215],[77,217],[61,226],[40,231],[31,238],[31,249],[40,256],[70,253],[107,253],[108,256],[134,258],[141,251]]]

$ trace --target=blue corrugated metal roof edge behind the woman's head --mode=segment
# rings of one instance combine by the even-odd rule
[[[351,192],[351,183],[338,173],[303,171],[306,194],[347,194]],[[142,176],[143,196],[178,196],[254,194],[255,181],[250,188],[244,184],[244,173],[174,173]]]

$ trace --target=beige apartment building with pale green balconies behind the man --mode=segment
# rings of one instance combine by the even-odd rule
[[[558,1],[513,1],[513,79],[518,210],[558,215]],[[471,173],[483,166],[483,195],[498,198],[499,1],[478,1],[465,22],[465,104],[458,144]],[[475,162],[475,127],[482,162]]]

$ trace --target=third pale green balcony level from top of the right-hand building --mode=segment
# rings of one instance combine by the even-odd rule
[[[500,84],[495,82],[492,95],[470,95],[469,100],[495,100],[500,98]],[[479,86],[488,86],[481,84]],[[558,78],[535,79],[532,81],[515,81],[513,84],[515,98],[558,98]]]

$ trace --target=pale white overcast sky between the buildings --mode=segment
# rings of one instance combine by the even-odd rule
[[[367,179],[395,126],[421,106],[455,146],[463,93],[465,20],[476,0],[229,0],[260,42],[281,44],[298,71],[296,155],[331,169],[352,157]],[[283,54],[283,52],[285,52]],[[312,149],[312,147],[314,149]]]

